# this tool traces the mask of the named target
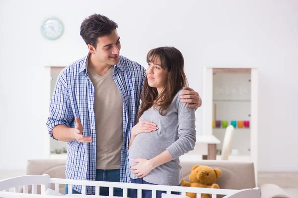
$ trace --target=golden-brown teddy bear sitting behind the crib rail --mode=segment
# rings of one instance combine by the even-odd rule
[[[187,187],[199,187],[199,188],[213,188],[219,189],[219,185],[216,184],[216,180],[221,177],[222,171],[218,168],[211,168],[209,166],[195,165],[191,169],[189,175],[189,181],[182,180],[181,185]],[[196,193],[186,193],[189,198],[196,198]],[[201,194],[201,198],[211,198],[210,194]]]

